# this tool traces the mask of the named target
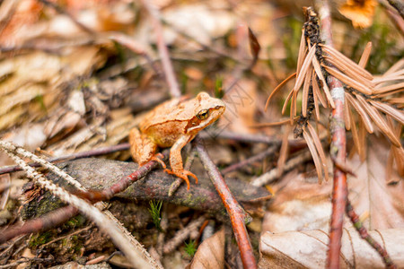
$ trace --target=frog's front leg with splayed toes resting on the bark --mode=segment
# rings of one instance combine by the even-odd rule
[[[179,178],[182,178],[187,182],[187,187],[189,189],[189,180],[188,176],[195,178],[196,183],[198,184],[198,178],[193,173],[184,170],[182,166],[182,157],[181,157],[181,149],[192,140],[193,136],[182,135],[180,139],[178,139],[171,147],[170,150],[170,166],[171,170],[165,169],[167,173],[173,174]]]

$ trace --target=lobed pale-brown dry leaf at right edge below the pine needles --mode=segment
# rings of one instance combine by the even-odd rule
[[[386,178],[390,146],[382,137],[372,135],[369,140],[364,162],[357,155],[349,161],[357,176],[348,176],[349,198],[356,213],[369,216],[364,221],[368,228],[404,228],[404,178],[397,174]],[[387,185],[389,181],[398,183]]]

